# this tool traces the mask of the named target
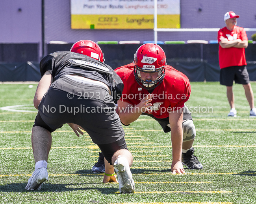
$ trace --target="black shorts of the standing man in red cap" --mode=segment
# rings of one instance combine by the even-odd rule
[[[249,84],[249,74],[245,65],[232,66],[221,69],[220,83],[224,86],[233,86],[233,81],[236,84]]]

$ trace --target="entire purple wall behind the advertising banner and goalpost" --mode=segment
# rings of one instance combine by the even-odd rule
[[[19,12],[18,9],[22,11]],[[198,11],[198,9],[201,11]],[[234,11],[237,26],[256,28],[255,0],[181,0],[182,28],[221,28],[223,16]],[[41,52],[41,0],[0,1],[0,43],[36,42]],[[250,36],[256,32],[247,32]],[[158,40],[216,40],[217,32],[159,32]],[[45,0],[45,41],[76,42],[81,39],[153,40],[152,30],[72,30],[70,0]]]

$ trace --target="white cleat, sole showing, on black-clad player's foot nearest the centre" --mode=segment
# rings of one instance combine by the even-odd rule
[[[135,185],[128,160],[125,157],[118,156],[113,166],[117,172],[120,193],[134,193]]]

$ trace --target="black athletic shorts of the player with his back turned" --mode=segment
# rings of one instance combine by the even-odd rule
[[[105,87],[83,84],[63,76],[51,84],[38,109],[33,127],[40,126],[53,132],[66,123],[77,124],[100,147],[108,162],[115,151],[127,149],[120,118]]]

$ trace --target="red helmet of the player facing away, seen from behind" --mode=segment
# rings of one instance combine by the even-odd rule
[[[104,62],[100,46],[91,40],[79,40],[70,49],[70,52],[90,56],[100,62]]]

